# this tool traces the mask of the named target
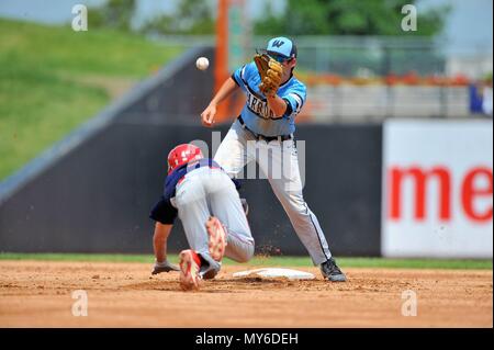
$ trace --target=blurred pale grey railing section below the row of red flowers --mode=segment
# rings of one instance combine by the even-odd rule
[[[312,121],[327,123],[471,116],[465,87],[315,86],[308,87],[302,112]]]

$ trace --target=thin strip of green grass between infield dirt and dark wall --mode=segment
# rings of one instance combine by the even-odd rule
[[[97,262],[146,262],[154,261],[150,255],[104,255],[104,253],[13,253],[1,252],[0,260],[46,260],[46,261],[97,261]],[[178,261],[177,255],[169,260]],[[467,269],[492,270],[492,260],[464,259],[384,259],[384,258],[338,258],[343,268],[390,268],[390,269]],[[238,264],[225,259],[225,264]],[[261,267],[312,267],[307,257],[259,257],[246,266]]]

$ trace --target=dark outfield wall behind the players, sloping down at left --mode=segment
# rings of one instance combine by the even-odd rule
[[[379,255],[381,127],[304,125],[297,134],[306,140],[305,197],[334,252]],[[150,252],[148,213],[162,191],[167,153],[195,139],[212,149],[202,126],[112,123],[0,206],[1,250]],[[240,192],[258,252],[305,253],[267,180],[244,180]],[[178,225],[169,250],[186,245]]]

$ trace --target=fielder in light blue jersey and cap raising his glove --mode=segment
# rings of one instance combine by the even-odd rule
[[[317,217],[303,199],[299,158],[293,134],[295,116],[306,99],[305,86],[293,76],[296,46],[287,37],[274,37],[252,63],[235,70],[223,83],[202,123],[212,126],[216,105],[237,89],[247,102],[217,149],[214,160],[232,177],[257,161],[285,210],[315,266],[329,281],[346,281],[336,264]],[[273,170],[274,169],[274,170]],[[281,169],[276,173],[276,169]]]

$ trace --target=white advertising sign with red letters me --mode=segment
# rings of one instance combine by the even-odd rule
[[[492,121],[390,121],[384,257],[492,258]]]

